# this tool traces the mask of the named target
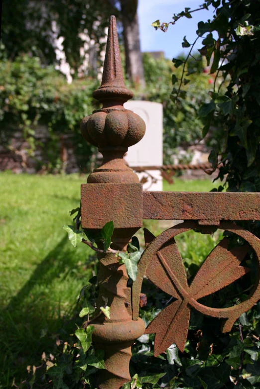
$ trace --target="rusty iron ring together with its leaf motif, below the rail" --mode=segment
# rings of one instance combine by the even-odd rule
[[[189,328],[191,307],[199,312],[224,319],[222,331],[231,330],[242,313],[248,311],[260,299],[260,272],[258,281],[248,298],[238,305],[228,308],[211,308],[197,300],[207,296],[245,275],[249,269],[240,265],[238,250],[228,250],[224,238],[208,255],[192,283],[188,285],[183,260],[175,242],[175,236],[195,228],[197,222],[184,222],[169,228],[154,238],[142,254],[138,265],[138,275],[133,284],[133,319],[138,317],[138,303],[143,276],[159,289],[170,294],[175,301],[164,308],[147,326],[145,333],[155,333],[154,355],[158,356],[172,343],[183,352]],[[220,229],[233,232],[245,239],[256,252],[260,268],[260,239],[234,223],[222,221]],[[202,231],[203,232],[203,231]]]

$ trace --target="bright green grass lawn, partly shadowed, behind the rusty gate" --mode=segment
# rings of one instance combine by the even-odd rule
[[[26,378],[75,314],[76,299],[96,272],[85,245],[63,231],[86,177],[0,174],[0,388]],[[167,191],[209,191],[209,181],[164,183]],[[74,325],[74,322],[72,323]],[[68,328],[71,328],[68,326]]]

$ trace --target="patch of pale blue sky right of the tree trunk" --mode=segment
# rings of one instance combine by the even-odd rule
[[[173,13],[184,10],[185,7],[198,8],[203,0],[139,0],[138,16],[140,40],[142,51],[164,51],[165,57],[172,59],[178,54],[187,52],[181,43],[184,35],[188,42],[196,39],[196,30],[200,20],[207,21],[213,15],[213,8],[192,13],[192,19],[181,18],[175,25],[170,25],[167,32],[155,31],[151,23],[157,19],[160,22],[172,21]],[[197,42],[196,49],[202,47],[201,40]]]

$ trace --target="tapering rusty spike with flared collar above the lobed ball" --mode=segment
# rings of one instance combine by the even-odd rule
[[[124,81],[115,16],[110,16],[109,20],[102,83],[100,88],[93,93],[93,97],[103,102],[103,107],[123,105],[124,102],[133,97],[132,92],[127,89]]]

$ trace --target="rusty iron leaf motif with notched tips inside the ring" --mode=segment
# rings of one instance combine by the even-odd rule
[[[197,301],[199,298],[219,291],[249,272],[250,269],[240,266],[247,251],[243,248],[239,252],[229,251],[227,246],[228,239],[224,238],[208,255],[190,287],[174,238],[164,243],[152,256],[150,262],[152,266],[146,269],[147,278],[175,298],[175,301],[164,308],[145,330],[146,334],[155,332],[154,356],[161,354],[172,343],[183,352],[191,307],[206,313],[205,309],[203,310],[203,307],[206,307]],[[213,309],[212,315],[218,317],[215,312],[217,309],[209,309]],[[224,314],[219,317],[229,316],[227,313],[226,316]]]

